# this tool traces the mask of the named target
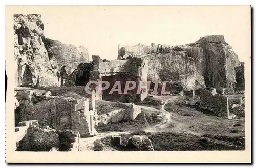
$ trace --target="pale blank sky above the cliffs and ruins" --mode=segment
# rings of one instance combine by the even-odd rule
[[[249,6],[60,6],[40,8],[46,38],[117,59],[120,45],[180,45],[224,35],[240,61],[250,57]]]

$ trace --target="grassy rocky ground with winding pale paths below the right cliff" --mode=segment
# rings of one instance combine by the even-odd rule
[[[234,95],[236,96],[238,95]],[[151,140],[154,150],[245,149],[244,117],[238,116],[230,120],[211,116],[207,111],[200,111],[191,106],[189,104],[191,100],[182,96],[153,95],[150,99],[153,101],[140,105],[142,113],[134,121],[98,125],[96,127],[98,135],[92,140],[121,135],[122,145],[125,146],[134,135],[146,135]],[[112,150],[123,150],[121,147],[114,149],[109,143],[105,145]],[[91,147],[86,148],[84,149],[94,150],[93,141]],[[108,149],[104,148],[104,150]]]

